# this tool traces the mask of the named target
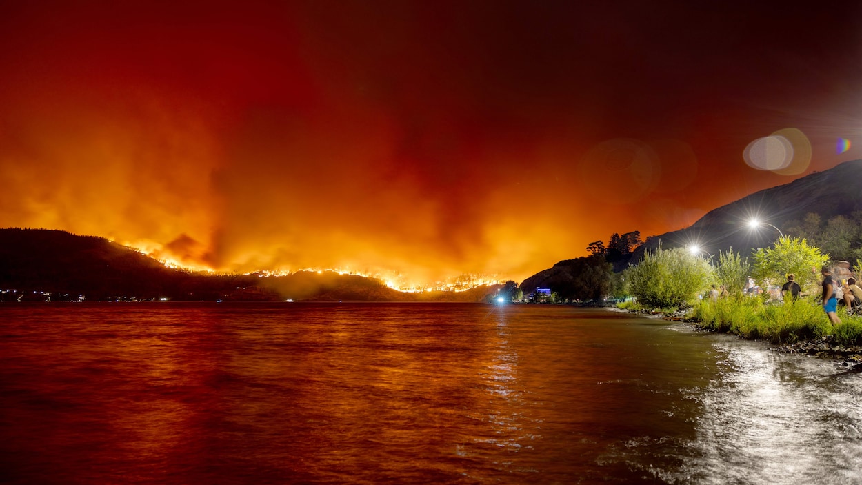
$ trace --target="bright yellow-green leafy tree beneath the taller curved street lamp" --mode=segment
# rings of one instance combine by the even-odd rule
[[[788,236],[779,237],[772,248],[758,249],[752,258],[752,273],[757,280],[778,282],[784,281],[788,274],[795,274],[800,287],[816,284],[820,268],[829,261],[828,255],[809,246],[805,239]]]

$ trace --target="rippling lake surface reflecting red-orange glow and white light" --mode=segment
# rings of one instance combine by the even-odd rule
[[[605,310],[0,304],[8,483],[862,483],[860,400]]]

